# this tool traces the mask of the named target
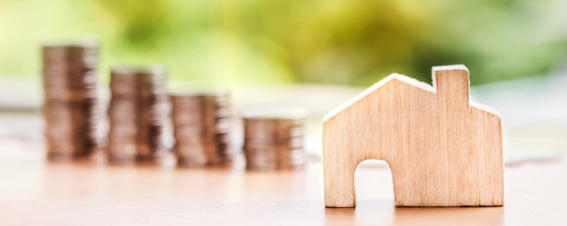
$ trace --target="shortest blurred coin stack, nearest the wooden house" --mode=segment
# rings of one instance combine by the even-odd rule
[[[246,109],[242,117],[248,170],[290,170],[305,164],[305,109]]]

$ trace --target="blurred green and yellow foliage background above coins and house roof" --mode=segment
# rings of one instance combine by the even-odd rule
[[[39,44],[96,37],[110,65],[163,63],[172,81],[473,84],[548,74],[567,56],[563,0],[2,0],[0,76],[39,78]]]

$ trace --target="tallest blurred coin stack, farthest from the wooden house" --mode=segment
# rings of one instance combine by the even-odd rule
[[[100,145],[98,48],[96,43],[42,47],[45,94],[42,111],[50,160],[85,157]]]

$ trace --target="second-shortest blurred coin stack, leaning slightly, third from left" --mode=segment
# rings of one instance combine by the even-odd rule
[[[232,161],[228,91],[213,89],[170,95],[179,166],[226,165]]]

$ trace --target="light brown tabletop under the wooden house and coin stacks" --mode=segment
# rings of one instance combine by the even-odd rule
[[[1,225],[565,225],[567,161],[505,170],[503,207],[401,208],[385,166],[362,163],[356,208],[325,208],[322,167],[247,172],[48,162],[0,150]]]

